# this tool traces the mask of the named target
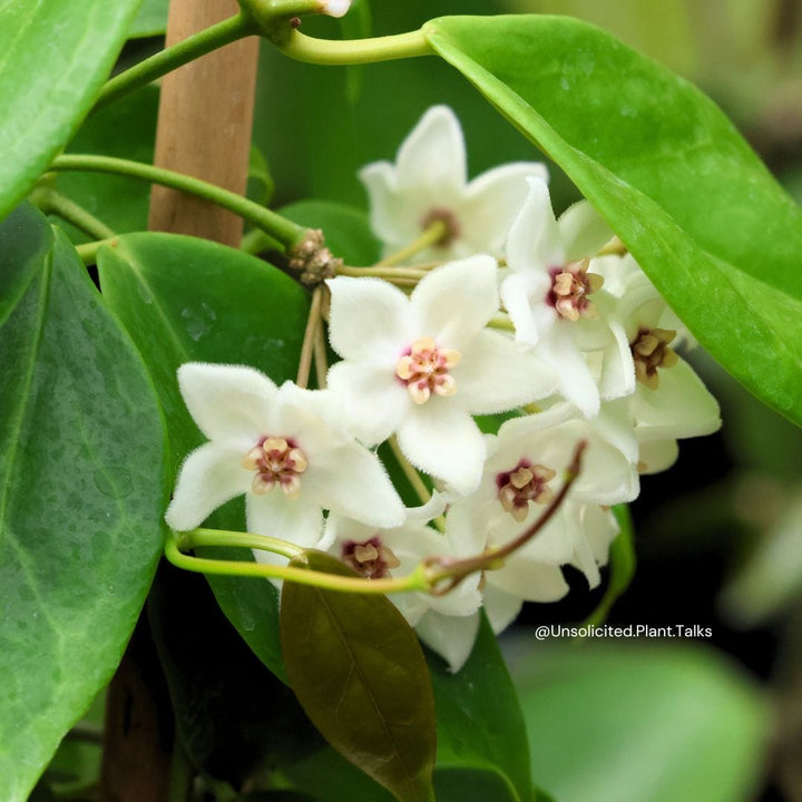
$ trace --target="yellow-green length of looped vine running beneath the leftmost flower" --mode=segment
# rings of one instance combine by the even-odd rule
[[[229,546],[232,544],[226,538],[225,542],[208,545]],[[361,579],[336,574],[323,574],[322,571],[306,570],[291,566],[190,557],[180,550],[178,547],[178,538],[175,534],[168,537],[165,542],[165,557],[177,568],[183,568],[184,570],[196,574],[283,579],[285,581],[297,583],[299,585],[311,585],[312,587],[320,587],[326,590],[340,590],[342,593],[383,595],[388,593],[408,593],[411,590],[427,591],[429,589],[429,584],[423,576],[422,565],[418,566],[409,576],[400,577],[399,579]]]

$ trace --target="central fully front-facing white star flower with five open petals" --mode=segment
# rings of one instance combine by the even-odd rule
[[[398,433],[421,470],[470,492],[485,441],[471,415],[548,395],[556,378],[485,324],[498,310],[496,262],[473,256],[423,278],[411,297],[379,278],[339,276],[330,338],[343,358],[329,372],[349,428],[368,444]]]

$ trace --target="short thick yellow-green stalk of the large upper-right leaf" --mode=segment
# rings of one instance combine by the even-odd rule
[[[315,39],[301,31],[291,31],[283,41],[274,45],[299,61],[319,65],[360,65],[394,59],[433,56],[422,30],[373,39]]]

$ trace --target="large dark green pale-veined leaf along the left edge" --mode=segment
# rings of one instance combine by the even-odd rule
[[[0,324],[4,802],[27,799],[114,673],[162,551],[167,491],[164,426],[129,339],[62,233],[22,206],[0,226],[14,237],[0,251],[0,296],[16,297]]]

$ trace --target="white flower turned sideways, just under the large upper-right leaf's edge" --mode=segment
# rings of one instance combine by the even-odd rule
[[[600,394],[585,354],[615,354],[619,348],[605,320],[604,280],[589,270],[590,257],[612,236],[585,202],[555,219],[548,187],[529,178],[529,195],[507,241],[510,273],[501,283],[516,338],[537,348],[557,370],[559,392],[588,417],[598,412]]]

